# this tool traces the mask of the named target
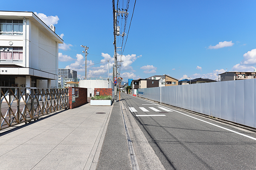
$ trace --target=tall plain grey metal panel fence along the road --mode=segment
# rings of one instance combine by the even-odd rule
[[[160,87],[138,89],[160,102]],[[162,102],[256,128],[256,79],[162,87]]]

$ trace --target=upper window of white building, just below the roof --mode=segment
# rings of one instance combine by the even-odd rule
[[[23,20],[0,20],[1,35],[23,35]]]

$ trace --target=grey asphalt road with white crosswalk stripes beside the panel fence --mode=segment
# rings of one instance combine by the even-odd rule
[[[256,169],[256,133],[139,97],[121,99],[166,170]]]

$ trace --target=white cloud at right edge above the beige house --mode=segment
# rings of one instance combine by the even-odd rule
[[[256,65],[256,49],[252,49],[243,55],[244,59],[240,64],[233,66],[232,71],[253,71]]]

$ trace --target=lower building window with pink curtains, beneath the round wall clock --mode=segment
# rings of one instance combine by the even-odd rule
[[[22,47],[0,47],[0,62],[15,62],[22,59]]]

